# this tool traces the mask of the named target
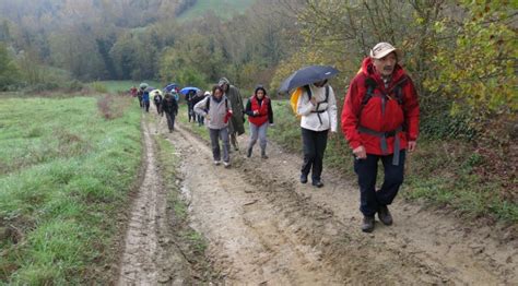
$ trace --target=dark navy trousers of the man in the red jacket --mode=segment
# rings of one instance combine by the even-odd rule
[[[366,215],[375,215],[380,205],[389,205],[403,183],[404,150],[401,151],[399,165],[392,165],[392,155],[380,156],[367,154],[365,159],[354,160],[354,171],[360,184],[360,211]],[[385,178],[381,189],[376,191],[378,160],[384,164]]]

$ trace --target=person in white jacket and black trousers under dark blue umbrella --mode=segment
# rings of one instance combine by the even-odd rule
[[[322,160],[329,130],[331,134],[337,132],[337,99],[327,82],[323,80],[306,85],[297,102],[304,151],[301,182],[306,183],[311,171],[311,183],[317,188],[323,187]]]

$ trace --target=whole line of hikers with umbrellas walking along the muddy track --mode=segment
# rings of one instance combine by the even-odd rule
[[[412,80],[400,64],[402,52],[388,43],[375,45],[362,62],[362,68],[351,80],[341,114],[341,131],[354,156],[354,171],[360,187],[360,211],[364,218],[362,230],[370,233],[375,215],[385,225],[392,224],[388,208],[403,182],[407,152],[416,147],[419,134],[419,102]],[[338,107],[334,91],[328,80],[337,70],[311,65],[287,78],[281,91],[292,93],[292,107],[301,119],[303,164],[299,181],[323,187],[322,160],[329,136],[338,131]],[[326,67],[323,67],[326,68]],[[133,93],[133,92],[132,92]],[[141,95],[140,95],[141,94]],[[150,94],[145,87],[137,93],[141,107],[149,111]],[[166,93],[158,114],[169,118],[169,131],[178,105]],[[156,99],[156,96],[155,96]],[[160,98],[158,100],[162,100]],[[169,100],[169,102],[167,102]],[[273,109],[267,90],[258,85],[244,107],[239,90],[222,78],[212,91],[186,94],[189,121],[205,124],[211,139],[214,165],[231,166],[231,144],[239,150],[237,136],[245,133],[248,117],[250,138],[246,157],[250,158],[259,140],[260,156],[267,159],[267,130],[273,124]],[[167,104],[164,104],[167,103]],[[160,106],[164,106],[161,108]],[[166,107],[170,106],[170,107]],[[220,141],[222,145],[220,147]],[[376,189],[378,162],[384,168],[384,181]]]

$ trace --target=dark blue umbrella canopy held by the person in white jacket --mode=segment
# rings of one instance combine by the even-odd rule
[[[290,90],[331,79],[338,70],[328,65],[309,65],[292,73],[279,88],[280,93],[287,93]]]

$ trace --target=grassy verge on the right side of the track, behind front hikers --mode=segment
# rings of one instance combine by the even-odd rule
[[[269,136],[291,152],[301,152],[299,121],[290,104],[274,100],[273,112],[275,128],[269,129]],[[325,165],[355,181],[351,151],[341,131],[337,135],[328,141]],[[417,151],[408,156],[402,195],[409,200],[424,200],[438,207],[451,207],[467,217],[484,216],[504,223],[518,223],[518,205],[502,195],[505,193],[502,191],[505,179],[481,178],[473,172],[475,166],[483,164],[483,159],[471,150],[463,142],[420,140]],[[378,183],[381,180],[380,168]]]

